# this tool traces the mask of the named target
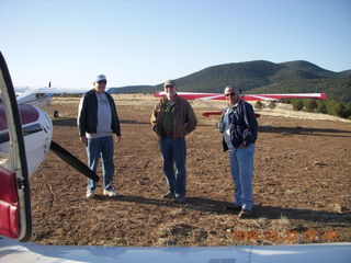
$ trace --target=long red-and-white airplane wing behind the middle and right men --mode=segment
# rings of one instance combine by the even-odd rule
[[[200,93],[200,92],[177,92],[177,94],[186,100],[201,101],[225,101],[226,98],[222,93]],[[163,96],[163,91],[154,93],[154,96]],[[242,101],[280,101],[282,99],[317,99],[326,100],[325,93],[285,93],[285,94],[240,94]]]

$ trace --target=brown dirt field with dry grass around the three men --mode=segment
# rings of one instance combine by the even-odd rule
[[[201,115],[186,137],[188,198],[163,201],[157,137],[149,118],[156,99],[115,96],[123,140],[115,145],[114,185],[121,196],[86,198],[87,180],[49,153],[31,179],[34,235],[43,244],[235,245],[351,242],[351,123],[259,118],[253,196],[256,217],[239,219],[229,157],[215,118]],[[83,162],[78,99],[55,99],[54,140]],[[101,171],[99,171],[101,176]]]

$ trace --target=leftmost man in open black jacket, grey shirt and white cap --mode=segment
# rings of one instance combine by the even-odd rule
[[[105,92],[106,77],[99,75],[93,82],[93,89],[80,100],[78,110],[78,129],[80,141],[87,148],[88,165],[97,172],[100,155],[103,168],[103,195],[116,196],[112,181],[114,175],[112,134],[121,140],[120,121],[112,96]],[[87,197],[94,197],[97,184],[88,179]]]

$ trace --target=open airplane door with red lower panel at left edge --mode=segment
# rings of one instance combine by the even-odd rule
[[[0,53],[0,235],[27,241],[31,192],[22,125],[5,60]]]

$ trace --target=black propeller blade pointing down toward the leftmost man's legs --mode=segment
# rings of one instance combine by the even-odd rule
[[[54,140],[52,140],[50,150],[54,151],[56,156],[67,162],[69,165],[75,168],[78,172],[82,173],[84,176],[98,182],[100,179],[95,172],[91,171],[84,163],[78,160],[69,151],[60,147]]]

